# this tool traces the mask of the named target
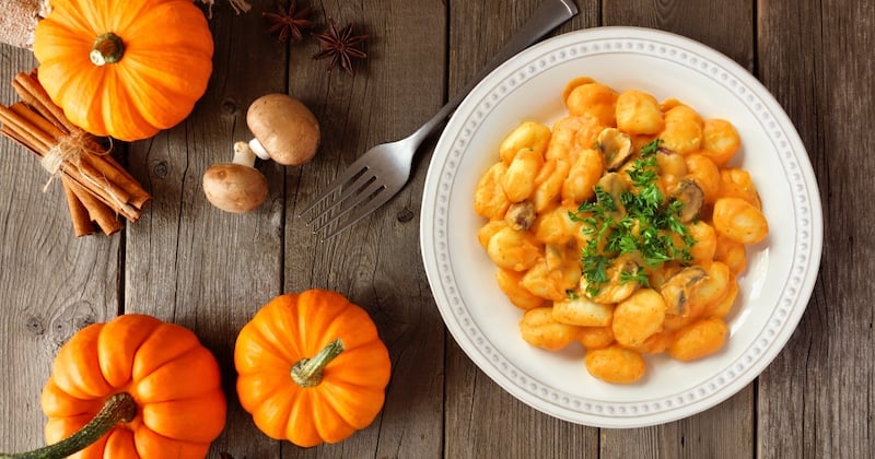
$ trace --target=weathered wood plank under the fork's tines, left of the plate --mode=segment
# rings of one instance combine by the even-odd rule
[[[440,108],[445,87],[446,5],[402,0],[314,2],[320,22],[353,23],[368,34],[366,61],[355,74],[312,61],[313,46],[295,47],[290,91],[319,119],[317,156],[287,169],[287,291],[331,289],[375,320],[393,363],[383,412],[374,424],[339,445],[283,457],[436,458],[442,448],[444,328],[419,252],[419,205],[433,141],[422,145],[411,179],[369,219],[319,242],[295,213],[369,148],[412,133]]]

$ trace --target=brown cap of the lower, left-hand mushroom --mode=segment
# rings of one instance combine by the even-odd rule
[[[207,200],[225,212],[245,213],[267,199],[267,178],[253,167],[219,163],[203,174],[203,193]]]

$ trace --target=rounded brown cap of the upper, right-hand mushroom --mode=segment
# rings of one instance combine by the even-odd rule
[[[246,123],[270,157],[287,166],[310,161],[319,146],[319,122],[301,101],[288,94],[266,94],[246,111]]]

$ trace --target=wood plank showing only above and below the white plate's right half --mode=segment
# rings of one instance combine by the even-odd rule
[[[749,0],[730,2],[606,1],[604,25],[658,28],[701,42],[752,70],[754,13]],[[682,87],[678,87],[682,99]],[[752,385],[722,404],[665,425],[602,432],[602,456],[749,457],[754,451]]]

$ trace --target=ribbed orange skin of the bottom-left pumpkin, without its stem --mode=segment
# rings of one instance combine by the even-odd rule
[[[51,445],[85,425],[114,393],[137,416],[72,458],[198,458],[224,428],[219,365],[190,330],[125,315],[77,332],[58,351],[40,404]]]

